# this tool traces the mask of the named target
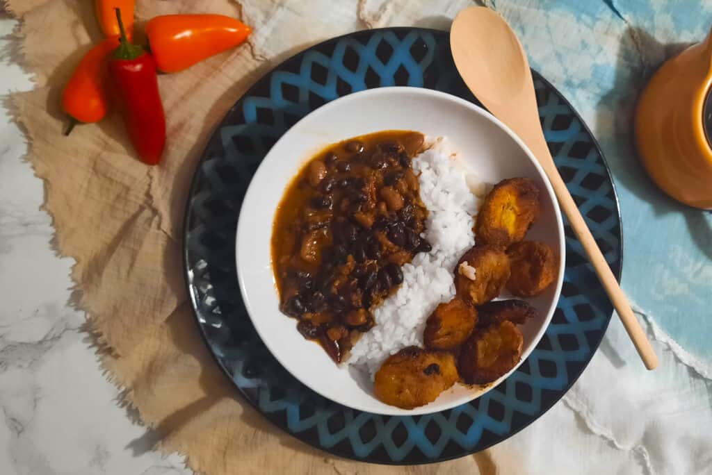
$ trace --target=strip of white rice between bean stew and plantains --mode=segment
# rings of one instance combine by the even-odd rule
[[[470,188],[479,189],[479,183],[466,174],[446,139],[431,143],[413,159],[413,169],[429,210],[422,236],[432,250],[403,266],[402,286],[375,310],[376,325],[351,349],[348,364],[367,370],[371,378],[388,356],[406,346],[422,346],[426,319],[438,304],[454,297],[452,271],[475,243],[472,216],[478,198]]]

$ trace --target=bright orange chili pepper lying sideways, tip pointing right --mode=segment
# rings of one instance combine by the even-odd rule
[[[159,70],[175,73],[239,45],[251,28],[222,15],[164,15],[146,24],[146,36]]]

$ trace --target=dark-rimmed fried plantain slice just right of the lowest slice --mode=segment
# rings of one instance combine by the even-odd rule
[[[491,383],[519,362],[524,338],[511,321],[475,330],[461,348],[458,370],[468,384]]]

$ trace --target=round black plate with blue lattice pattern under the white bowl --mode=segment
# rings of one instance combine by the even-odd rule
[[[557,168],[619,274],[619,210],[601,151],[559,92],[537,73],[534,80]],[[284,370],[253,329],[237,284],[235,231],[247,186],[267,151],[300,118],[342,95],[391,85],[429,87],[478,103],[455,69],[449,34],[422,28],[333,38],[261,78],[228,112],[206,147],[187,204],[184,260],[206,344],[268,420],[340,457],[421,464],[486,449],[540,417],[592,358],[612,306],[565,224],[566,269],[553,320],[529,358],[486,395],[428,415],[375,415],[327,400]]]

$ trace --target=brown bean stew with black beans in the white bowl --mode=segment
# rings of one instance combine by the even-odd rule
[[[419,132],[385,131],[329,146],[299,172],[276,213],[272,263],[281,311],[339,363],[372,310],[429,252],[428,211],[411,161]]]

